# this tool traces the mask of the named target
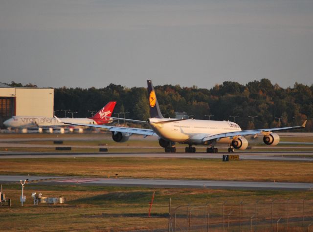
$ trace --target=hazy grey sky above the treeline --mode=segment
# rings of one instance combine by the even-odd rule
[[[313,0],[0,0],[0,82],[313,84]]]

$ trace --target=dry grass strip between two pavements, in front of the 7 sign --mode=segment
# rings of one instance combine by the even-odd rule
[[[313,183],[312,162],[163,158],[3,159],[0,174]]]

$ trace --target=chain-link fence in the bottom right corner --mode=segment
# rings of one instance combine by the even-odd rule
[[[243,200],[171,206],[168,231],[313,232],[313,200]]]

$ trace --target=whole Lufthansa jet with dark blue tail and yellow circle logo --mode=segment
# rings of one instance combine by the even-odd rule
[[[106,125],[88,125],[73,122],[64,122],[71,125],[90,126],[97,128],[106,128],[112,131],[112,139],[116,142],[125,142],[133,134],[144,136],[158,136],[160,146],[165,148],[165,152],[176,152],[175,143],[188,144],[185,152],[196,152],[193,145],[206,145],[207,153],[217,153],[218,149],[214,146],[216,143],[229,144],[228,152],[234,152],[235,149],[244,150],[248,146],[248,141],[244,138],[246,135],[263,135],[263,141],[267,145],[277,145],[279,136],[274,131],[292,130],[304,128],[307,120],[302,126],[269,128],[242,131],[240,126],[230,121],[214,120],[195,120],[195,119],[176,119],[164,118],[160,112],[156,93],[152,81],[148,80],[148,93],[150,105],[150,118],[145,121],[131,120],[134,122],[148,123],[151,129],[116,127]],[[121,118],[124,119],[124,118]]]

